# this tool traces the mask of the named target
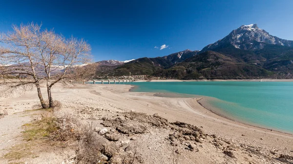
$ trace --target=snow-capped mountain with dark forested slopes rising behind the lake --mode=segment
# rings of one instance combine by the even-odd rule
[[[201,51],[139,58],[100,75],[180,79],[293,78],[293,41],[242,25]]]

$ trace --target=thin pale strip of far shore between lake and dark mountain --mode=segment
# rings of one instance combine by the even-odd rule
[[[147,82],[148,80],[136,80],[135,82]],[[178,79],[165,79],[165,80],[150,80],[149,82],[184,82],[184,81],[262,81],[262,82],[293,82],[293,79],[214,79],[214,80],[178,80]]]

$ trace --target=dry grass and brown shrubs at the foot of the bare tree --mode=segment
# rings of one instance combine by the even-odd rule
[[[55,107],[60,106],[61,104],[58,103]],[[106,163],[101,156],[103,146],[94,136],[92,123],[80,124],[70,113],[56,113],[54,109],[40,111],[42,111],[40,119],[22,126],[24,128],[22,137],[25,142],[13,146],[3,156],[5,159],[18,163],[24,158],[35,158],[35,154],[49,151],[49,147],[55,146],[54,149],[73,148],[76,151],[74,159],[76,164],[96,164],[99,160],[101,164]]]

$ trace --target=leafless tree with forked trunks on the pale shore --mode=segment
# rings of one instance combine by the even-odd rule
[[[87,74],[83,66],[91,62],[90,50],[83,39],[67,39],[53,30],[41,30],[38,24],[13,26],[13,32],[0,36],[0,74],[3,78],[18,77],[14,87],[34,84],[42,108],[52,107],[51,88],[63,79]],[[46,81],[48,106],[42,97],[41,80]]]

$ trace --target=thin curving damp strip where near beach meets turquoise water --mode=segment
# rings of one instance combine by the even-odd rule
[[[136,91],[133,91],[133,89],[135,88],[138,88],[138,86],[135,86],[135,85],[130,85],[131,88],[128,90],[129,92],[136,92]],[[238,123],[238,124],[242,124],[242,125],[245,125],[245,126],[251,126],[251,127],[254,127],[254,128],[261,128],[261,129],[265,129],[265,130],[270,130],[270,131],[274,131],[274,132],[279,132],[279,133],[283,133],[283,134],[289,134],[289,135],[293,135],[293,133],[290,133],[288,131],[282,131],[282,130],[278,130],[278,129],[275,129],[275,128],[265,128],[265,127],[262,127],[261,125],[253,125],[253,124],[250,124],[250,123],[245,123],[245,122],[242,122],[242,121],[238,121],[236,119],[232,119],[230,118],[229,116],[225,115],[225,114],[221,114],[219,112],[216,112],[212,109],[209,109],[207,107],[205,107],[203,105],[203,103],[200,102],[200,100],[203,100],[205,97],[209,97],[209,96],[204,96],[204,95],[196,95],[196,94],[184,94],[184,93],[176,93],[176,92],[168,92],[168,93],[157,93],[157,92],[145,92],[145,93],[151,93],[153,94],[154,96],[157,96],[157,97],[172,97],[172,98],[198,98],[196,99],[196,102],[201,106],[203,107],[204,109],[208,110],[209,112],[217,115],[217,116],[220,116],[224,119],[228,119],[232,122],[235,122],[235,123]],[[165,94],[165,95],[164,95]],[[166,94],[169,94],[171,96],[166,96]],[[184,96],[184,95],[187,95],[187,96]],[[213,97],[214,98],[214,97]]]

